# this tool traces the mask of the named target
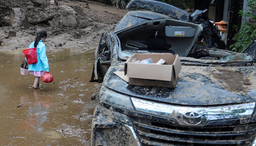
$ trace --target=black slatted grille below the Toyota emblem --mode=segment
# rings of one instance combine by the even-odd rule
[[[256,124],[185,127],[132,119],[142,146],[250,146],[256,135]]]

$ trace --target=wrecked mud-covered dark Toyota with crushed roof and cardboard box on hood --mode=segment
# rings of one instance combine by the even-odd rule
[[[256,146],[252,57],[198,43],[204,26],[173,19],[181,16],[168,15],[173,6],[151,0],[131,5],[150,11],[128,12],[116,30],[102,32],[94,52],[91,81],[102,87],[91,146]],[[129,85],[117,76],[134,53],[178,54],[176,87]]]

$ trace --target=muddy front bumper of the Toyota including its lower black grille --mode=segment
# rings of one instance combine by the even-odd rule
[[[216,121],[219,126],[217,123],[203,127],[181,126],[160,117],[141,116],[138,112],[121,114],[103,105],[95,108],[91,146],[255,146],[255,123],[224,120]]]

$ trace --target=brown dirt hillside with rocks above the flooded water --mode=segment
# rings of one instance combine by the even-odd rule
[[[48,51],[95,49],[102,30],[114,30],[128,11],[83,1],[55,0],[51,4],[50,0],[0,0],[0,51],[27,48],[39,30],[48,32],[45,42]],[[14,8],[24,11],[29,28],[11,25]],[[10,31],[16,32],[16,36],[10,36]]]

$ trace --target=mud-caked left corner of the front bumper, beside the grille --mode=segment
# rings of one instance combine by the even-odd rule
[[[91,131],[91,146],[140,146],[132,126],[102,114],[97,105]]]

